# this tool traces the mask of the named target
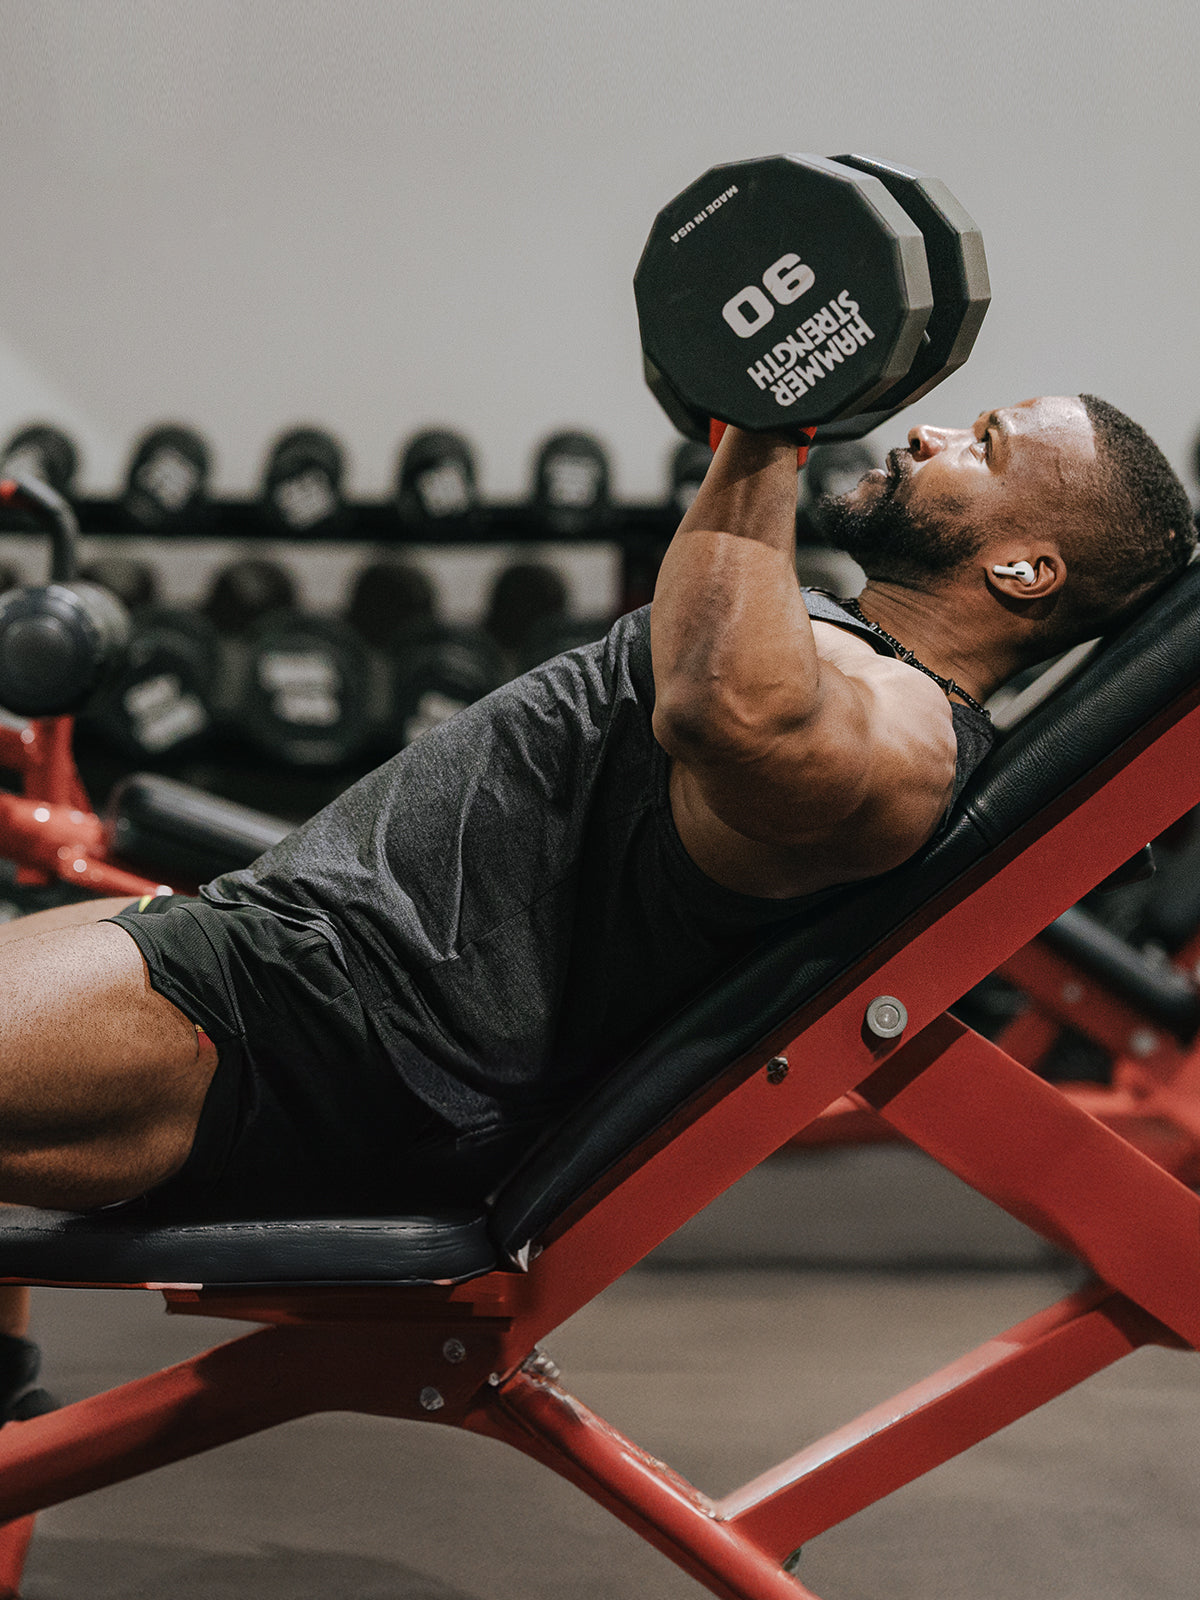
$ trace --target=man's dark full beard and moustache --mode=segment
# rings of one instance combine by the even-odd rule
[[[944,578],[982,547],[982,538],[962,520],[960,509],[946,502],[936,517],[914,512],[898,499],[907,482],[907,451],[888,454],[888,482],[866,504],[851,506],[846,496],[822,494],[818,520],[827,542],[858,562],[867,578],[922,587]]]

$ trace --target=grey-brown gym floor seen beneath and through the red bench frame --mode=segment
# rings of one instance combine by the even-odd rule
[[[797,1267],[805,1211],[816,1245]],[[762,1264],[747,1269],[734,1242],[750,1218],[760,1237],[747,1253]],[[907,1152],[776,1163],[547,1349],[570,1389],[723,1493],[1075,1285],[1074,1266],[1016,1224],[982,1219],[982,1203]],[[856,1266],[835,1267],[835,1256]],[[909,1266],[883,1270],[891,1258]],[[141,1293],[46,1290],[37,1317],[46,1379],[66,1398],[240,1331],[168,1318],[158,1296]],[[1142,1350],[813,1541],[800,1576],[822,1600],[1194,1600],[1197,1491],[1200,1365]],[[685,1600],[704,1590],[504,1446],[339,1414],[45,1512],[22,1594]]]

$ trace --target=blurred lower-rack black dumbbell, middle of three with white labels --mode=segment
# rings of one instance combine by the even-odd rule
[[[336,618],[275,611],[245,638],[235,720],[243,736],[286,766],[346,766],[374,723],[366,645]]]

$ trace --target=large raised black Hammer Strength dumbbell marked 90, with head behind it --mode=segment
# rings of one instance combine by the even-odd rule
[[[670,421],[859,438],[963,365],[990,299],[946,184],[862,155],[714,166],[659,211],[634,275]]]

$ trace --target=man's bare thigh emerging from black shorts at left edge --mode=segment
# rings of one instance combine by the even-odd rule
[[[110,912],[109,912],[110,914]],[[187,1157],[216,1051],[109,922],[5,944],[0,1200],[128,1200]]]

